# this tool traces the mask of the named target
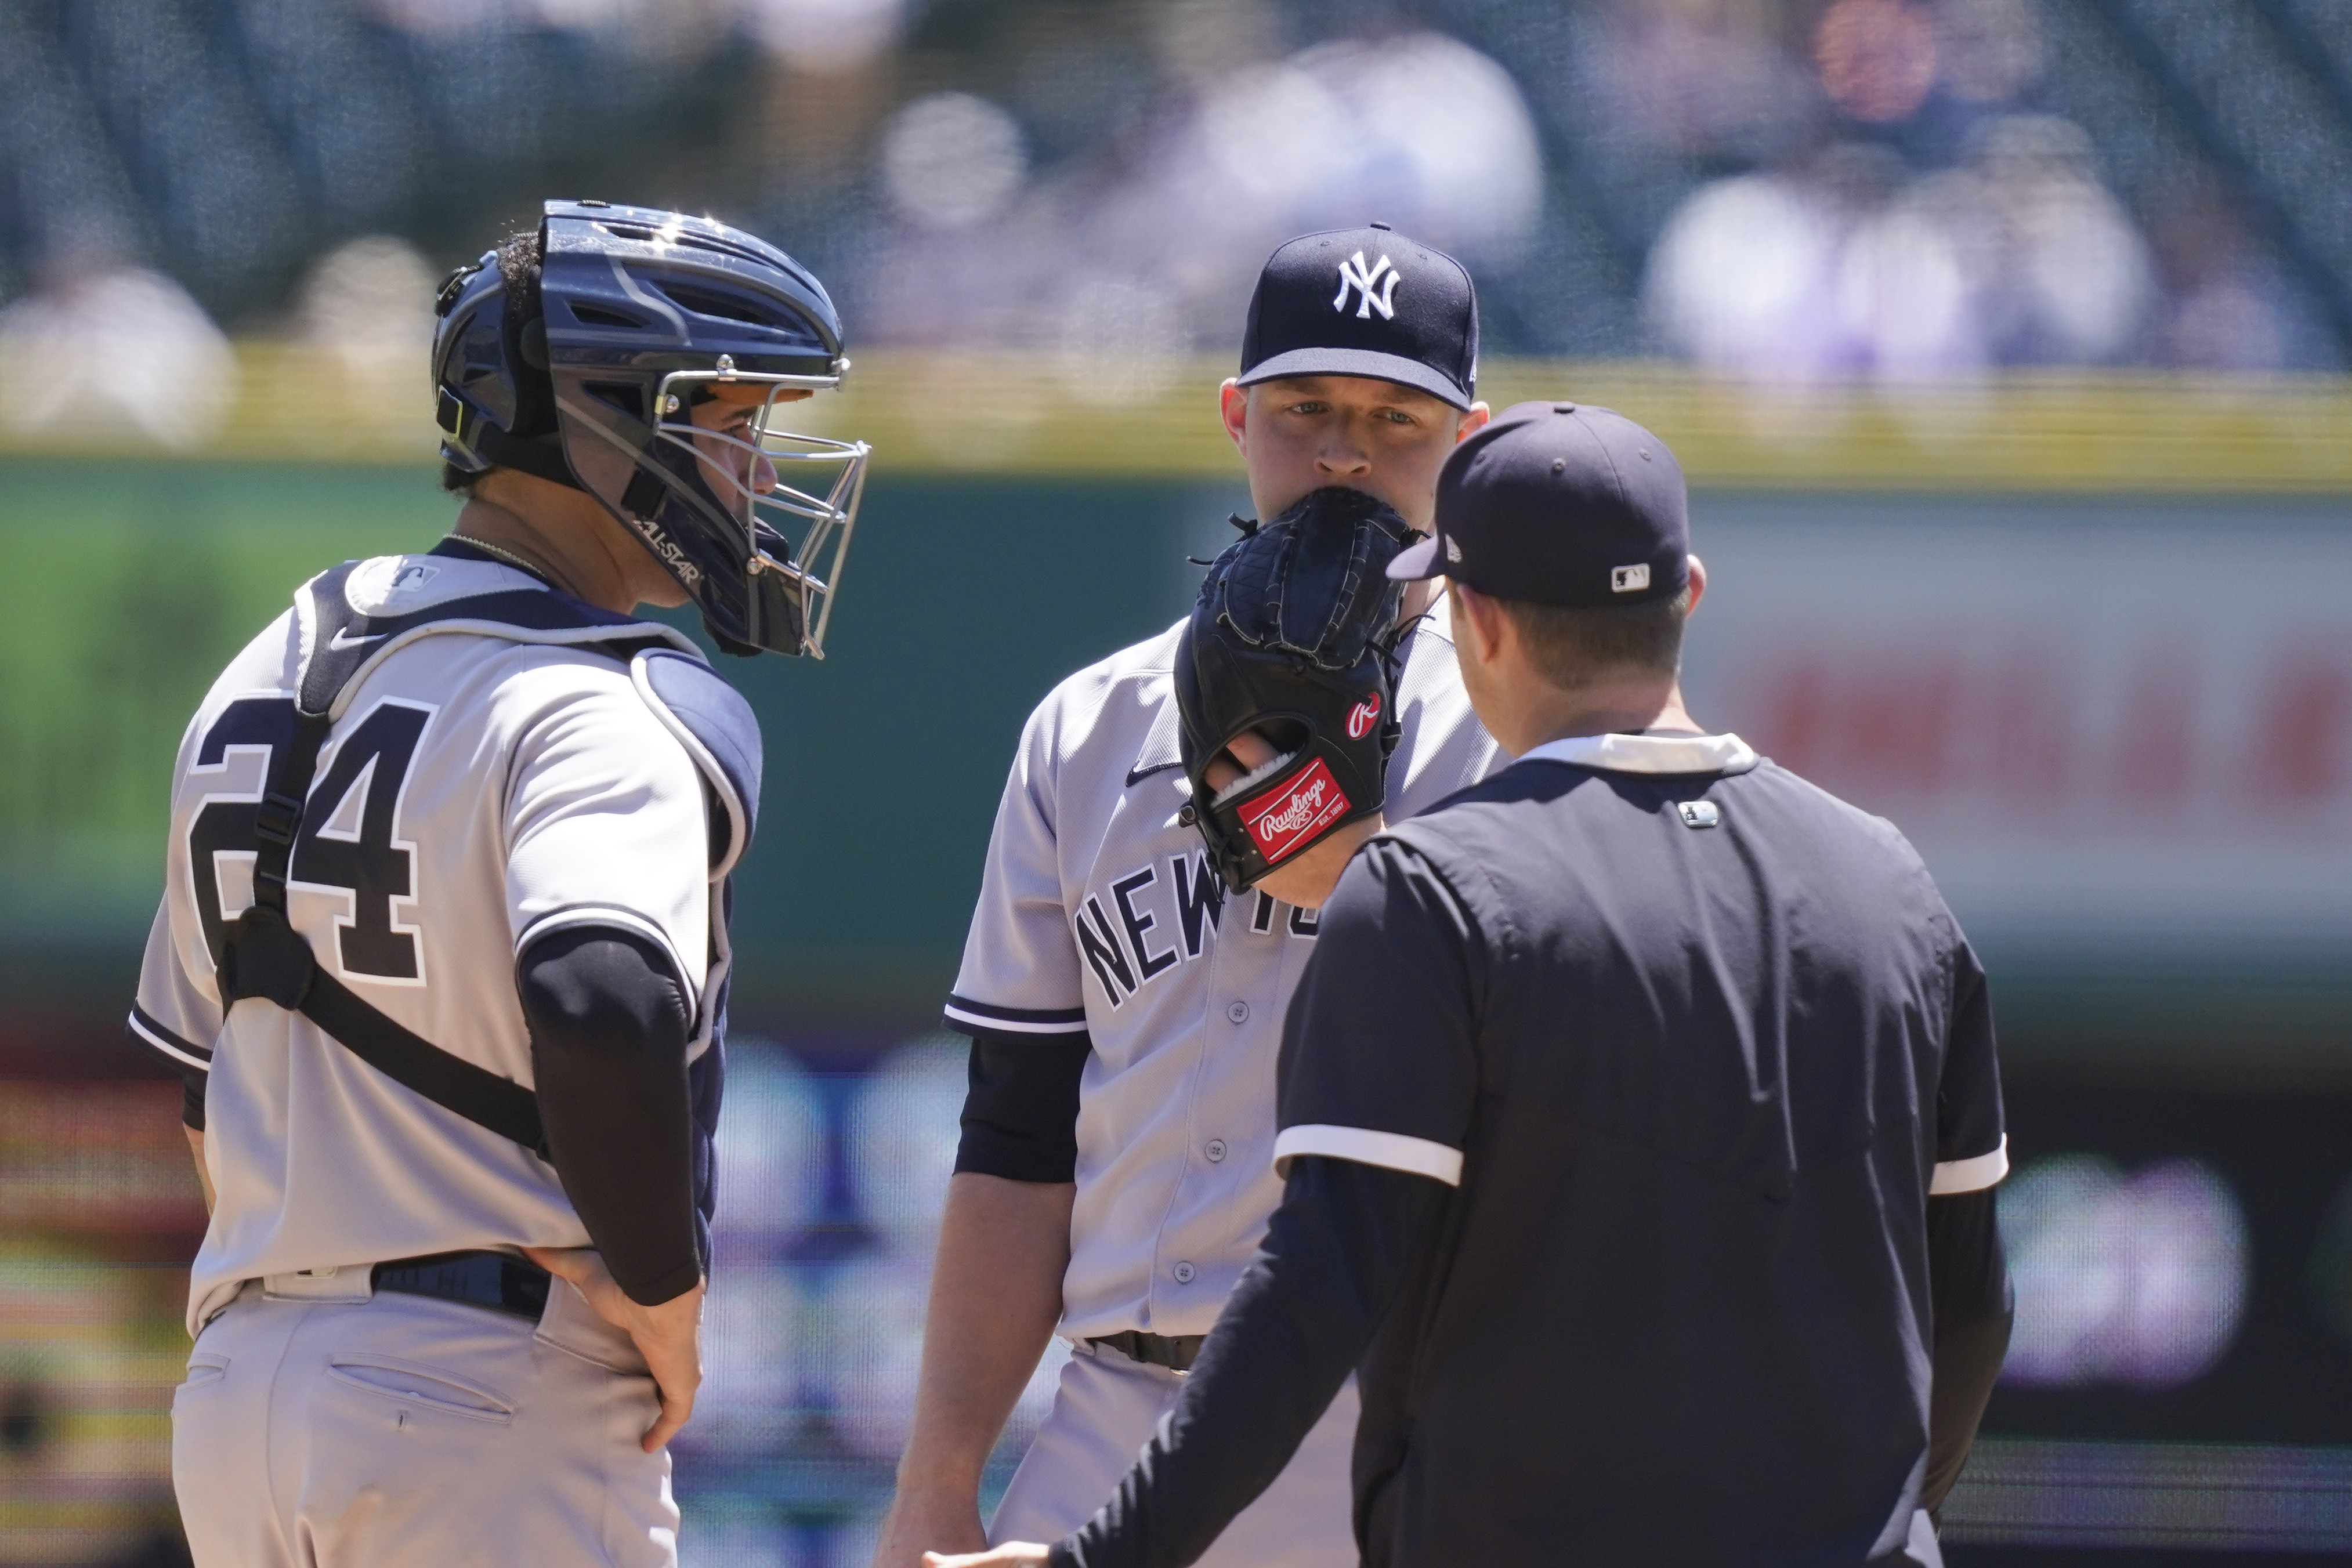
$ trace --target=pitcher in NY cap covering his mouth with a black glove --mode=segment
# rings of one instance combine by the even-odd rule
[[[1383,820],[1496,762],[1432,585],[1385,578],[1486,423],[1475,364],[1451,256],[1383,226],[1279,247],[1221,388],[1270,522],[1021,736],[948,1001],[971,1093],[877,1568],[1084,1523],[1256,1253],[1315,910]],[[983,1530],[981,1469],[1054,1333],[1070,1363]],[[1352,1566],[1355,1410],[1345,1389],[1202,1561]]]

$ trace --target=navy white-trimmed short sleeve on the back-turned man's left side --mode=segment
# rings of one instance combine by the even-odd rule
[[[1282,1027],[1277,1171],[1327,1154],[1461,1185],[1486,940],[1425,856],[1357,851]]]

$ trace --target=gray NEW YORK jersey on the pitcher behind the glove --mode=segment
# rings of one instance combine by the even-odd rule
[[[1054,689],[997,806],[948,1020],[1087,1034],[1061,1333],[1207,1333],[1282,1199],[1275,1053],[1315,914],[1225,896],[1176,755],[1183,623]],[[1477,783],[1496,745],[1463,696],[1446,604],[1397,682],[1388,818]]]

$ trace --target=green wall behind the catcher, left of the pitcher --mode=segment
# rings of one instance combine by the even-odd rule
[[[875,477],[830,656],[720,658],[767,731],[736,905],[753,1009],[936,1016],[1021,719],[1167,625],[1197,576],[1183,555],[1230,538],[1242,503],[1200,480]],[[430,548],[452,515],[419,465],[0,461],[7,994],[127,994],[205,686],[306,576]]]

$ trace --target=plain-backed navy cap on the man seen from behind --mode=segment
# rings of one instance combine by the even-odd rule
[[[1517,402],[1437,475],[1437,534],[1388,576],[1449,576],[1498,599],[1646,604],[1691,583],[1682,465],[1611,409]]]

